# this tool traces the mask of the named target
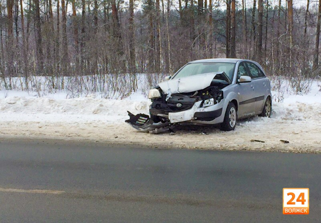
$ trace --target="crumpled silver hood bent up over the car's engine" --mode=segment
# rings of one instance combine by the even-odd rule
[[[168,94],[170,97],[171,94],[189,93],[207,88],[211,85],[212,80],[217,74],[222,74],[222,72],[198,74],[184,78],[170,79],[163,81],[158,85],[162,91],[165,94]]]

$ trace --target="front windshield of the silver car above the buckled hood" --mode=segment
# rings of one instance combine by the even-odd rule
[[[172,79],[183,78],[197,74],[224,71],[231,81],[233,78],[234,66],[235,63],[226,62],[189,63],[186,66],[184,66],[180,71],[178,71],[178,73]]]

